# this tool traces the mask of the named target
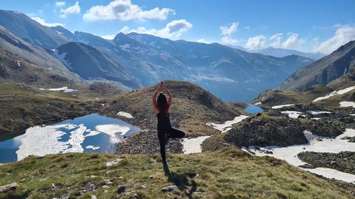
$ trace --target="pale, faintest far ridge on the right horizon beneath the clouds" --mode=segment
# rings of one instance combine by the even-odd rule
[[[285,49],[285,48],[277,48],[277,47],[266,47],[261,50],[248,50],[245,47],[242,46],[234,46],[234,45],[229,45],[229,47],[234,47],[239,50],[244,50],[246,52],[253,52],[253,53],[261,53],[263,55],[270,55],[273,57],[285,57],[288,55],[298,55],[301,57],[308,57],[310,59],[320,59],[324,57],[325,55],[319,52],[300,52],[298,50],[292,50],[292,49]]]

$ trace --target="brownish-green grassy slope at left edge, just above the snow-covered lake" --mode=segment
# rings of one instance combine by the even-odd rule
[[[75,118],[92,109],[92,102],[82,103],[70,94],[38,91],[25,84],[0,84],[0,101],[0,135]]]

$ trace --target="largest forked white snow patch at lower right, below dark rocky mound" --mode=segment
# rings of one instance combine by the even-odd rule
[[[300,152],[329,152],[329,153],[339,153],[339,152],[355,152],[355,143],[348,142],[348,140],[342,140],[342,137],[354,137],[354,129],[346,129],[346,131],[336,137],[335,139],[329,137],[320,137],[317,135],[312,135],[312,132],[305,130],[303,132],[308,140],[308,144],[293,145],[290,147],[278,147],[278,146],[268,146],[260,147],[261,150],[256,149],[251,146],[249,149],[255,152],[257,156],[271,156],[278,159],[283,159],[293,166],[300,166],[305,164],[305,162],[298,159],[297,154]],[[322,141],[320,141],[322,140]],[[246,147],[242,147],[246,151]],[[273,152],[273,154],[263,153],[262,150]],[[324,177],[336,178],[342,181],[355,183],[355,175],[346,174],[334,169],[305,169],[315,174],[320,174]],[[329,172],[332,171],[332,172]],[[339,174],[339,175],[337,175]],[[346,176],[346,177],[344,177]]]

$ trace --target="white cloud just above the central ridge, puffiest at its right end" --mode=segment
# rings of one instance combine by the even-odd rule
[[[155,28],[146,29],[144,27],[138,27],[137,29],[131,29],[128,26],[124,26],[120,30],[121,33],[143,33],[149,35],[155,35],[161,38],[178,38],[182,33],[192,28],[192,24],[185,19],[171,21],[165,25],[165,28],[156,30]]]

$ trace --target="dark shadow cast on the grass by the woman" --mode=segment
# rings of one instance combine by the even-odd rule
[[[192,193],[197,191],[197,183],[192,179],[197,175],[196,173],[178,174],[170,172],[168,166],[164,167],[164,172],[170,183],[174,183],[175,186],[178,186],[180,191],[186,193],[188,198],[192,198]]]

